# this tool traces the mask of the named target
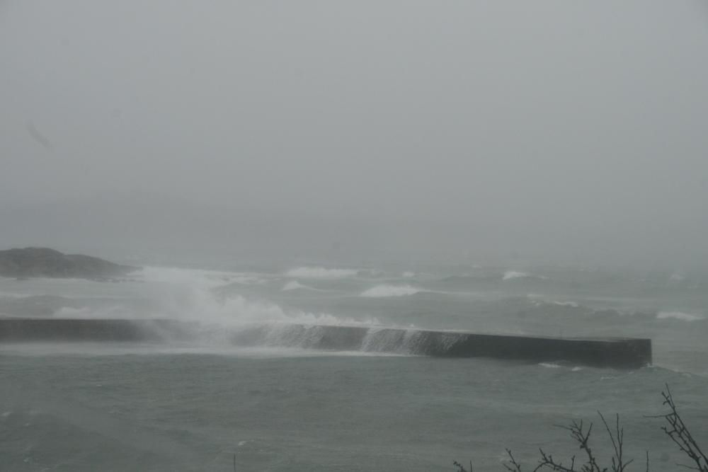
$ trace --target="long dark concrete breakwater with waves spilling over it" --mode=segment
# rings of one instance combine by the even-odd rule
[[[595,367],[637,368],[651,364],[651,340],[545,338],[458,331],[367,326],[271,323],[213,328],[167,319],[0,318],[0,342],[204,341],[316,350],[392,352],[434,357],[491,357],[529,362],[567,361]]]

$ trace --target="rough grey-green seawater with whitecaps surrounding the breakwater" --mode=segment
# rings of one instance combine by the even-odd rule
[[[708,447],[708,277],[514,267],[147,268],[117,283],[0,279],[0,314],[197,320],[194,343],[0,345],[0,471],[501,471],[571,456],[570,420],[619,413],[629,456],[680,470],[670,384]],[[249,323],[649,337],[654,365],[433,359],[224,343]],[[607,450],[596,428],[597,449]]]

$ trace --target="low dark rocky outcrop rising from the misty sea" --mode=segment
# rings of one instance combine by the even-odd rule
[[[63,254],[50,248],[18,248],[0,251],[0,276],[70,277],[111,280],[138,270],[83,254]]]

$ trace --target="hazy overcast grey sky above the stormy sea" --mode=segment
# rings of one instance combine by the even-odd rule
[[[0,199],[2,246],[708,263],[708,7],[2,1]]]

